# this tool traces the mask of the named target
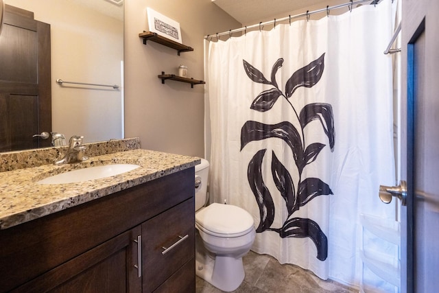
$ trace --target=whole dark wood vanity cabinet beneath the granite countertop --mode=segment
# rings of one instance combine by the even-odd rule
[[[195,292],[193,176],[0,231],[0,292]]]

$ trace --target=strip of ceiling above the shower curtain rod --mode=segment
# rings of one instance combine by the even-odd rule
[[[291,12],[326,8],[349,2],[348,0],[212,0],[213,3],[244,25],[286,17]],[[302,10],[302,11],[301,11]],[[300,12],[299,12],[300,11]],[[294,14],[292,14],[294,15]]]

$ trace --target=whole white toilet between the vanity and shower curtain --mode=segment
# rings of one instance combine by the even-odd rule
[[[244,280],[242,257],[254,242],[256,231],[250,213],[231,204],[204,207],[209,162],[195,165],[195,272],[216,288],[230,292]]]

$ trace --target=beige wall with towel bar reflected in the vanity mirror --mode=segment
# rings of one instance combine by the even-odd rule
[[[123,0],[3,1],[50,24],[51,131],[86,143],[123,138]]]

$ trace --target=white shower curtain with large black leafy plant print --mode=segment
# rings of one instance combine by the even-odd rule
[[[378,198],[394,185],[392,15],[384,0],[209,43],[210,194],[252,214],[255,252],[358,285],[359,215],[395,216]]]

